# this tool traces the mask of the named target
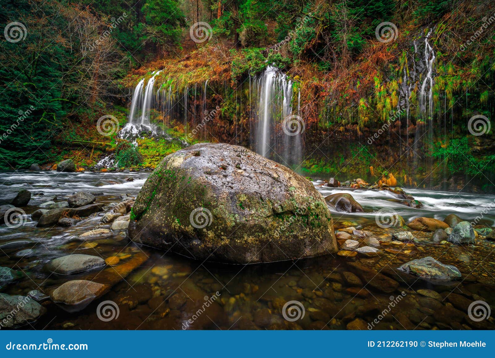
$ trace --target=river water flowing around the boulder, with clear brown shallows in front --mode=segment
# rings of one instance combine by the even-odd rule
[[[99,225],[99,214],[83,218],[72,227],[36,226],[30,214],[50,196],[55,201],[79,191],[100,191],[97,203],[118,203],[136,196],[148,173],[58,173],[3,172],[0,190],[22,187],[32,192],[23,224],[0,226],[0,266],[19,272],[19,278],[0,289],[9,295],[26,295],[38,289],[49,294],[62,283],[89,279],[111,286],[109,292],[81,311],[67,313],[47,300],[47,313],[26,329],[493,329],[493,318],[473,321],[468,304],[482,300],[495,305],[493,276],[494,242],[477,239],[476,245],[457,246],[435,243],[432,233],[419,233],[414,243],[392,241],[375,213],[392,208],[404,219],[428,216],[442,219],[455,213],[492,226],[495,222],[494,196],[405,190],[424,206],[414,209],[394,201],[387,192],[318,187],[324,195],[348,192],[364,213],[332,212],[336,229],[345,221],[362,225],[381,241],[376,256],[343,257],[328,255],[276,264],[222,265],[198,262],[132,243],[124,232],[111,237],[83,241],[75,235]],[[133,181],[128,181],[132,178]],[[42,195],[43,194],[43,195]],[[110,225],[99,226],[109,228]],[[20,250],[32,249],[32,256],[18,257]],[[117,256],[119,265],[93,271],[56,275],[45,265],[68,254],[107,258]],[[433,256],[453,264],[462,272],[461,280],[434,284],[396,270],[415,258]],[[142,262],[143,261],[143,262]],[[136,264],[136,262],[138,262]],[[367,272],[367,277],[363,277]],[[371,272],[371,274],[370,274]],[[354,275],[355,274],[355,275]],[[356,277],[357,276],[357,277]],[[368,282],[368,283],[366,283]],[[364,289],[363,289],[364,287]],[[118,317],[102,320],[99,304],[114,302]],[[293,303],[291,303],[291,301]],[[298,319],[288,311],[288,303],[300,306]],[[208,304],[206,304],[208,303]],[[391,306],[391,304],[393,305]],[[301,307],[304,307],[301,309]],[[384,309],[388,309],[384,313]],[[100,318],[99,318],[100,317]],[[192,322],[191,322],[192,321]],[[356,323],[357,322],[357,323]]]

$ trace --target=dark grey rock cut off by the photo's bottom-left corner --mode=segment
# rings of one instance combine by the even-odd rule
[[[3,328],[18,328],[36,321],[46,312],[31,297],[9,296],[0,293],[0,322]]]

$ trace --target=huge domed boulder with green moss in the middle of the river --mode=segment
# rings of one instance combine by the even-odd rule
[[[129,236],[188,257],[229,263],[337,251],[330,212],[309,181],[227,144],[197,144],[165,157],[136,199]]]

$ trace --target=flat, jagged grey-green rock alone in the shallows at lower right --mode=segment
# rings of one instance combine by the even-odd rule
[[[398,269],[425,279],[454,280],[461,277],[457,267],[445,265],[431,256],[409,261]]]

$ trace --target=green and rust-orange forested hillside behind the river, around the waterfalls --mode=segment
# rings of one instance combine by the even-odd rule
[[[249,146],[247,84],[268,66],[291,81],[302,146],[312,153],[300,158],[308,175],[332,173],[351,158],[358,173],[386,175],[409,150],[396,169],[406,183],[411,163],[420,177],[435,163],[449,175],[495,169],[489,1],[4,0],[1,7],[2,169],[68,157],[91,168],[108,151],[120,153],[118,166],[153,167],[180,142],[141,138],[137,149],[96,126],[112,115],[122,127],[134,87],[151,75],[194,107],[186,119],[158,116],[169,134]],[[192,97],[195,86],[204,98]],[[201,108],[215,107],[208,130],[188,137]],[[482,136],[468,132],[473,116]],[[377,131],[388,134],[374,138]],[[356,148],[349,136],[373,146]]]

